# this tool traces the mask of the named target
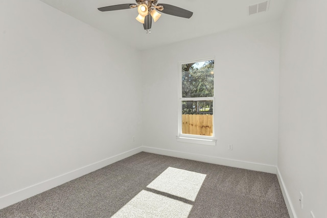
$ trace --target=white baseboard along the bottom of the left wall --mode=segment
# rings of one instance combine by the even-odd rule
[[[87,166],[83,166],[81,168],[75,169],[74,171],[65,173],[63,175],[57,176],[55,178],[37,183],[35,185],[17,190],[15,192],[9,193],[8,195],[0,197],[0,209],[8,207],[12,204],[15,204],[19,201],[28,199],[32,196],[38,195],[39,193],[54,188],[58,185],[61,185],[65,182],[69,182],[73,179],[79,178],[86,174],[96,171],[102,167],[105,167],[114,162],[120,161],[124,158],[142,152],[143,148],[138,147],[136,149],[132,149],[130,151],[106,158],[104,160],[98,161],[96,163],[89,164]]]

